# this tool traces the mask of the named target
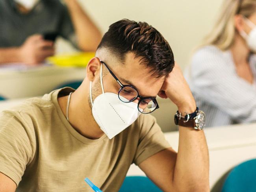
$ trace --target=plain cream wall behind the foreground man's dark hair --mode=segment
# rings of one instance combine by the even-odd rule
[[[122,18],[146,21],[169,42],[182,68],[191,51],[211,29],[223,0],[79,0],[104,33]],[[59,52],[69,49],[58,46]]]

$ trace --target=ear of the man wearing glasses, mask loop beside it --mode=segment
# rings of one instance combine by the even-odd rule
[[[86,67],[86,78],[89,79],[89,81],[93,81],[95,79],[95,76],[100,73],[100,59],[98,57],[93,57]]]

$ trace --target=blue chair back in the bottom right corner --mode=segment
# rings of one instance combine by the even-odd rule
[[[237,165],[226,178],[222,192],[256,192],[256,159]]]

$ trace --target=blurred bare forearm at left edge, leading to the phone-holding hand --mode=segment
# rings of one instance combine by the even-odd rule
[[[20,49],[13,48],[0,48],[0,65],[3,63],[18,63],[20,60]]]

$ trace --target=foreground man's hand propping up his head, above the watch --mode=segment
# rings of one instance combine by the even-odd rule
[[[182,113],[193,113],[196,110],[195,99],[177,63],[165,79],[158,96],[169,98]]]

